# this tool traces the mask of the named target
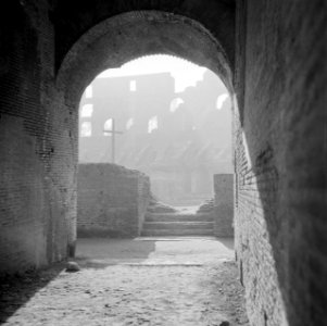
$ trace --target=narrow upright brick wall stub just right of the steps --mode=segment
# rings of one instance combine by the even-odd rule
[[[234,175],[214,175],[214,235],[234,236]]]

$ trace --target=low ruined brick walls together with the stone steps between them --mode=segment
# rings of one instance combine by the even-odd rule
[[[178,210],[153,196],[150,178],[109,163],[80,163],[77,236],[234,236],[232,174],[214,175],[214,200]]]

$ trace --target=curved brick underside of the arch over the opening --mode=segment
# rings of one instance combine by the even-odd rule
[[[85,33],[65,55],[56,86],[76,108],[86,86],[102,71],[149,54],[169,54],[206,66],[231,91],[231,64],[218,40],[199,22],[160,11],[128,12]]]

